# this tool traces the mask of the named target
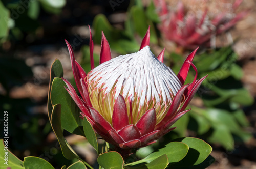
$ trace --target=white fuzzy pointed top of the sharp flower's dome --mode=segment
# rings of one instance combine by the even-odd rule
[[[181,88],[175,73],[160,62],[149,46],[136,53],[120,55],[102,63],[89,74],[88,81],[97,81],[96,88],[102,87],[105,93],[115,88],[115,99],[122,90],[122,96],[140,98],[140,105],[155,98],[157,102],[172,102]]]

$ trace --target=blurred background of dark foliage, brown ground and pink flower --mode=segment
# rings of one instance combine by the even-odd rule
[[[164,47],[164,63],[178,73],[194,59],[198,78],[209,74],[191,101],[191,111],[141,157],[177,137],[205,140],[216,162],[209,168],[256,168],[256,2],[232,0],[1,0],[0,108],[8,111],[9,150],[18,158],[37,156],[54,167],[74,161],[62,156],[47,114],[50,67],[58,58],[64,78],[73,80],[67,46],[89,72],[89,27],[99,60],[101,30],[112,57],[139,50],[151,25],[151,50]],[[187,83],[193,81],[190,70]],[[74,80],[73,80],[74,81]],[[2,117],[1,117],[2,118]],[[0,119],[1,128],[3,119]],[[89,164],[97,158],[86,139],[65,132]],[[1,132],[1,138],[3,132]]]

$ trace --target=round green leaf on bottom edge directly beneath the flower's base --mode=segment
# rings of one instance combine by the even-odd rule
[[[123,168],[123,158],[122,156],[115,152],[106,152],[101,154],[97,159],[99,165],[104,169],[122,169]]]

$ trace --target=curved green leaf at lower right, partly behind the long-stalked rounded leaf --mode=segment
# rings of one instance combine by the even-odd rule
[[[174,164],[175,166],[192,166],[202,163],[211,153],[212,148],[209,144],[204,142],[202,139],[185,137],[175,139],[180,141],[187,146],[189,146],[188,153],[185,158],[183,158],[178,163]]]

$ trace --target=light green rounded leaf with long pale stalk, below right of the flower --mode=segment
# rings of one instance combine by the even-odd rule
[[[180,160],[182,160],[187,152],[188,152],[189,147],[181,142],[170,142],[167,145],[165,145],[164,148],[161,148],[153,153],[151,153],[150,155],[148,155],[146,158],[127,164],[127,165],[136,165],[136,164],[140,164],[143,162],[149,163],[153,160],[155,160],[156,158],[162,156],[163,154],[166,154],[168,157],[168,161],[170,164],[172,163],[176,163],[179,162]]]

